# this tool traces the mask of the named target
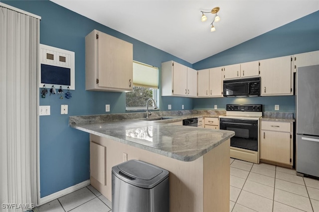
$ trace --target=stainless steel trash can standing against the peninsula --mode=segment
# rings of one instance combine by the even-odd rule
[[[139,160],[112,167],[112,212],[168,212],[168,175]]]

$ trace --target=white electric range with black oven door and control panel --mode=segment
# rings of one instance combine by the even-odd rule
[[[219,128],[232,130],[230,157],[259,163],[259,119],[262,105],[226,105],[226,115],[219,116]]]

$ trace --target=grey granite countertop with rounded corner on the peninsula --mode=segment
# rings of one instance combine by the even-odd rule
[[[171,119],[158,121],[141,118],[88,121],[92,119],[80,116],[87,118],[87,121],[80,121],[79,116],[70,116],[70,126],[181,161],[194,161],[235,135],[229,130],[166,124],[194,116],[203,117],[202,114],[187,114],[178,117],[172,115]]]

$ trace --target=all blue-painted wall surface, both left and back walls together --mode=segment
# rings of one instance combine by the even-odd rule
[[[220,54],[195,64],[189,64],[157,48],[103,26],[48,0],[0,0],[42,17],[40,43],[75,52],[75,91],[72,99],[60,100],[57,95],[40,98],[40,105],[51,106],[50,116],[40,116],[40,189],[41,197],[53,194],[89,179],[89,135],[68,126],[69,115],[103,114],[105,105],[111,105],[109,113],[125,112],[125,94],[85,91],[85,36],[93,29],[103,31],[133,43],[133,59],[157,66],[174,60],[178,63],[204,69],[222,65],[254,61],[319,49],[319,12],[280,27],[242,43]],[[298,27],[296,27],[298,26]],[[297,31],[294,31],[297,28]],[[313,31],[315,29],[315,31]],[[301,36],[302,35],[302,36]],[[316,37],[317,36],[317,37]],[[225,108],[226,104],[263,104],[264,110],[294,111],[294,97],[258,98],[208,98],[191,99],[177,97],[160,98],[160,109]],[[60,105],[68,105],[68,115],[60,114]],[[280,110],[280,111],[281,111]]]

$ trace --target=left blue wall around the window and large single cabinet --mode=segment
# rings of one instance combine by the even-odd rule
[[[156,67],[174,60],[191,64],[132,37],[101,25],[48,0],[1,0],[1,2],[41,16],[40,43],[75,52],[75,91],[72,99],[56,95],[40,98],[40,105],[51,106],[50,116],[40,116],[40,190],[41,198],[81,183],[89,176],[89,134],[68,126],[69,115],[103,114],[125,111],[125,93],[85,91],[85,36],[93,29],[133,43],[133,59]],[[190,98],[163,97],[160,109],[192,109]],[[177,104],[179,108],[177,108]],[[60,106],[68,105],[68,115]]]

